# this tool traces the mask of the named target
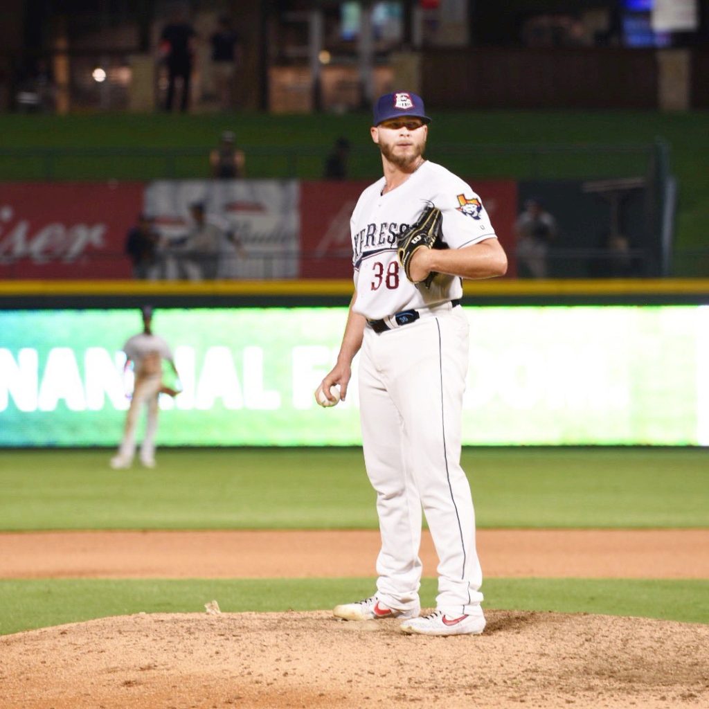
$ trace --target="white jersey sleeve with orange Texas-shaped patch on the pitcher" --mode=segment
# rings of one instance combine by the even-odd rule
[[[443,242],[461,249],[497,237],[482,200],[469,184],[451,175],[440,188],[435,205],[443,214]]]

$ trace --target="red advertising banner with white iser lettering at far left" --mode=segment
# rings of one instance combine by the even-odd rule
[[[142,182],[0,184],[0,278],[130,278]]]

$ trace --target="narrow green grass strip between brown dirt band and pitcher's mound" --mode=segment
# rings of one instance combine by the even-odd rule
[[[0,635],[132,613],[323,610],[372,594],[372,579],[0,579]],[[601,613],[709,623],[709,581],[487,579],[485,607]],[[435,604],[423,579],[421,603]]]

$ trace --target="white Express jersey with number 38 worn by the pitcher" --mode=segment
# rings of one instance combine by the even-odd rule
[[[496,238],[482,201],[469,184],[442,165],[425,161],[406,182],[381,194],[385,179],[367,187],[352,212],[353,311],[379,320],[412,308],[460,298],[458,277],[440,274],[430,288],[406,278],[396,257],[399,235],[433,204],[443,216],[442,242],[452,249]]]

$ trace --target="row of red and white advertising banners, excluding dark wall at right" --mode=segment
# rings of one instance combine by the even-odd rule
[[[194,257],[185,247],[194,229],[194,203],[205,206],[206,221],[217,227],[206,252],[215,261],[215,273],[201,278],[351,278],[350,216],[367,184],[296,179],[5,183],[0,279],[131,279],[125,239],[141,213],[152,218],[160,239],[148,278],[194,277],[185,267]],[[511,276],[517,183],[475,184],[510,252]],[[396,234],[377,238],[393,240]]]

